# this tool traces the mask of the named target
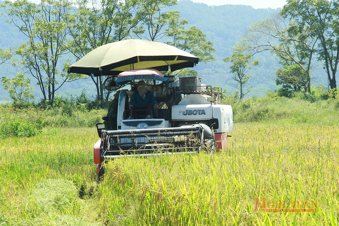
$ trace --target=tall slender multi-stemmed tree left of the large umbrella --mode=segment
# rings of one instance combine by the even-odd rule
[[[17,0],[5,3],[1,7],[4,8],[6,22],[17,27],[28,39],[15,50],[21,58],[19,64],[36,80],[44,100],[53,101],[55,92],[65,82],[78,78],[78,75],[64,73],[67,62],[63,68],[59,63],[62,55],[67,53],[64,45],[71,2],[42,0],[36,5],[27,0]]]

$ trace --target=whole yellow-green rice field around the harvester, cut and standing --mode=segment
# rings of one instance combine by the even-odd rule
[[[118,159],[100,184],[94,128],[0,139],[0,225],[338,225],[338,125],[234,127],[228,151]],[[319,206],[256,212],[256,197]]]

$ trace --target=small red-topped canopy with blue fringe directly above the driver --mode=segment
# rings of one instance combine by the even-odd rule
[[[168,83],[168,78],[165,78],[160,71],[155,69],[136,69],[136,70],[126,70],[119,74],[117,83],[119,85],[127,84],[132,80],[137,79],[153,79],[162,81],[165,85]]]

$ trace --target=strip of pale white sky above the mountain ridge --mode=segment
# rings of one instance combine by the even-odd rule
[[[191,0],[207,5],[251,5],[253,8],[281,8],[286,0]]]

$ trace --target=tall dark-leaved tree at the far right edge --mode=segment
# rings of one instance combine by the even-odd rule
[[[339,3],[337,0],[287,0],[281,10],[284,18],[291,18],[296,32],[306,31],[318,40],[316,53],[324,62],[331,89],[336,89],[339,63]]]

